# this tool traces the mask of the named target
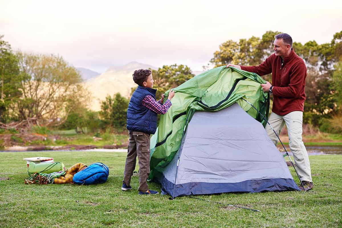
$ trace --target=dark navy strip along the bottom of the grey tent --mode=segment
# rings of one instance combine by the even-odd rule
[[[262,191],[300,191],[293,179],[274,178],[247,180],[238,183],[190,182],[185,184],[177,184],[173,196],[174,184],[167,180],[161,173],[156,175],[156,177],[162,186],[161,194],[169,194],[172,197],[229,192],[258,193]]]

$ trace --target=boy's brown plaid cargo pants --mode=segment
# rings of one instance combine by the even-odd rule
[[[150,172],[150,135],[140,131],[129,131],[128,154],[126,158],[125,171],[122,183],[130,186],[131,176],[135,169],[136,156],[139,159],[139,188],[147,191],[147,178]]]

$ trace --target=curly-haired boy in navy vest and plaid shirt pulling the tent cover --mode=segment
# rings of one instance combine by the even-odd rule
[[[170,90],[169,97],[163,104],[164,95],[156,101],[156,89],[153,89],[153,77],[150,70],[136,70],[133,81],[139,86],[132,94],[127,109],[127,129],[129,130],[129,145],[121,189],[132,189],[131,176],[135,169],[136,156],[139,159],[139,194],[156,195],[158,191],[149,190],[147,178],[150,172],[150,134],[157,129],[157,114],[165,114],[171,106],[174,91]]]

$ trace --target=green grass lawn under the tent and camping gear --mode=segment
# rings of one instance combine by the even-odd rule
[[[23,158],[33,156],[51,156],[67,168],[100,161],[109,167],[109,178],[89,186],[25,185]],[[125,157],[79,151],[0,153],[0,227],[342,227],[342,155],[310,156],[314,189],[307,193],[196,196],[226,205],[190,197],[139,196],[138,176],[132,177],[133,190],[121,191]],[[156,183],[149,187],[160,191]]]

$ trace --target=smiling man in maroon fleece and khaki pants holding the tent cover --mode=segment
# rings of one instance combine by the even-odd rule
[[[260,76],[272,73],[272,84],[261,84],[265,92],[273,94],[272,113],[268,122],[279,133],[286,124],[289,134],[289,146],[293,154],[298,174],[305,190],[313,188],[311,168],[307,151],[302,141],[302,124],[305,101],[306,66],[304,60],[294,53],[292,38],[289,34],[281,33],[275,36],[274,53],[259,66],[238,66],[228,64],[226,67],[235,67],[241,70],[254,72]],[[265,130],[275,145],[278,138],[271,127],[266,125]],[[301,184],[299,188],[304,191]]]

